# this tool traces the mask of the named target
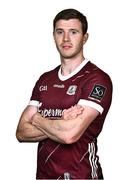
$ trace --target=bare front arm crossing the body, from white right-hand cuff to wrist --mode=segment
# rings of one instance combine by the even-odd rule
[[[76,142],[98,116],[99,112],[93,108],[84,106],[84,110],[79,115],[69,116],[67,120],[50,120],[36,113],[32,118],[32,123],[40,128],[50,139],[61,143],[71,144]]]

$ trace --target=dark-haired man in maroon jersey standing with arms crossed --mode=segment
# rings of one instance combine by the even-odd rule
[[[84,57],[87,26],[75,9],[56,15],[53,36],[61,65],[41,75],[18,124],[20,142],[39,142],[37,179],[103,179],[97,137],[112,83]]]

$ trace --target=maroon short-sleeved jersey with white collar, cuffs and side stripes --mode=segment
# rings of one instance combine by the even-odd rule
[[[37,179],[101,179],[97,156],[97,137],[109,110],[112,83],[97,66],[84,60],[68,76],[61,68],[44,73],[37,81],[30,105],[39,107],[44,117],[61,117],[62,111],[75,104],[99,111],[81,138],[73,144],[60,144],[51,139],[39,143]]]

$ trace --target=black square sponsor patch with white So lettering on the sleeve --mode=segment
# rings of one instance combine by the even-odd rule
[[[106,91],[106,87],[99,84],[95,84],[92,92],[89,95],[89,98],[101,101],[102,98],[104,97],[105,91]]]

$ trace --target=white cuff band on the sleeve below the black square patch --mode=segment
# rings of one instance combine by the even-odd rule
[[[100,114],[103,113],[103,107],[93,101],[88,101],[86,99],[80,99],[79,102],[78,102],[79,105],[84,105],[84,106],[89,106],[89,107],[92,107],[94,109],[96,109],[97,111],[100,112]]]

